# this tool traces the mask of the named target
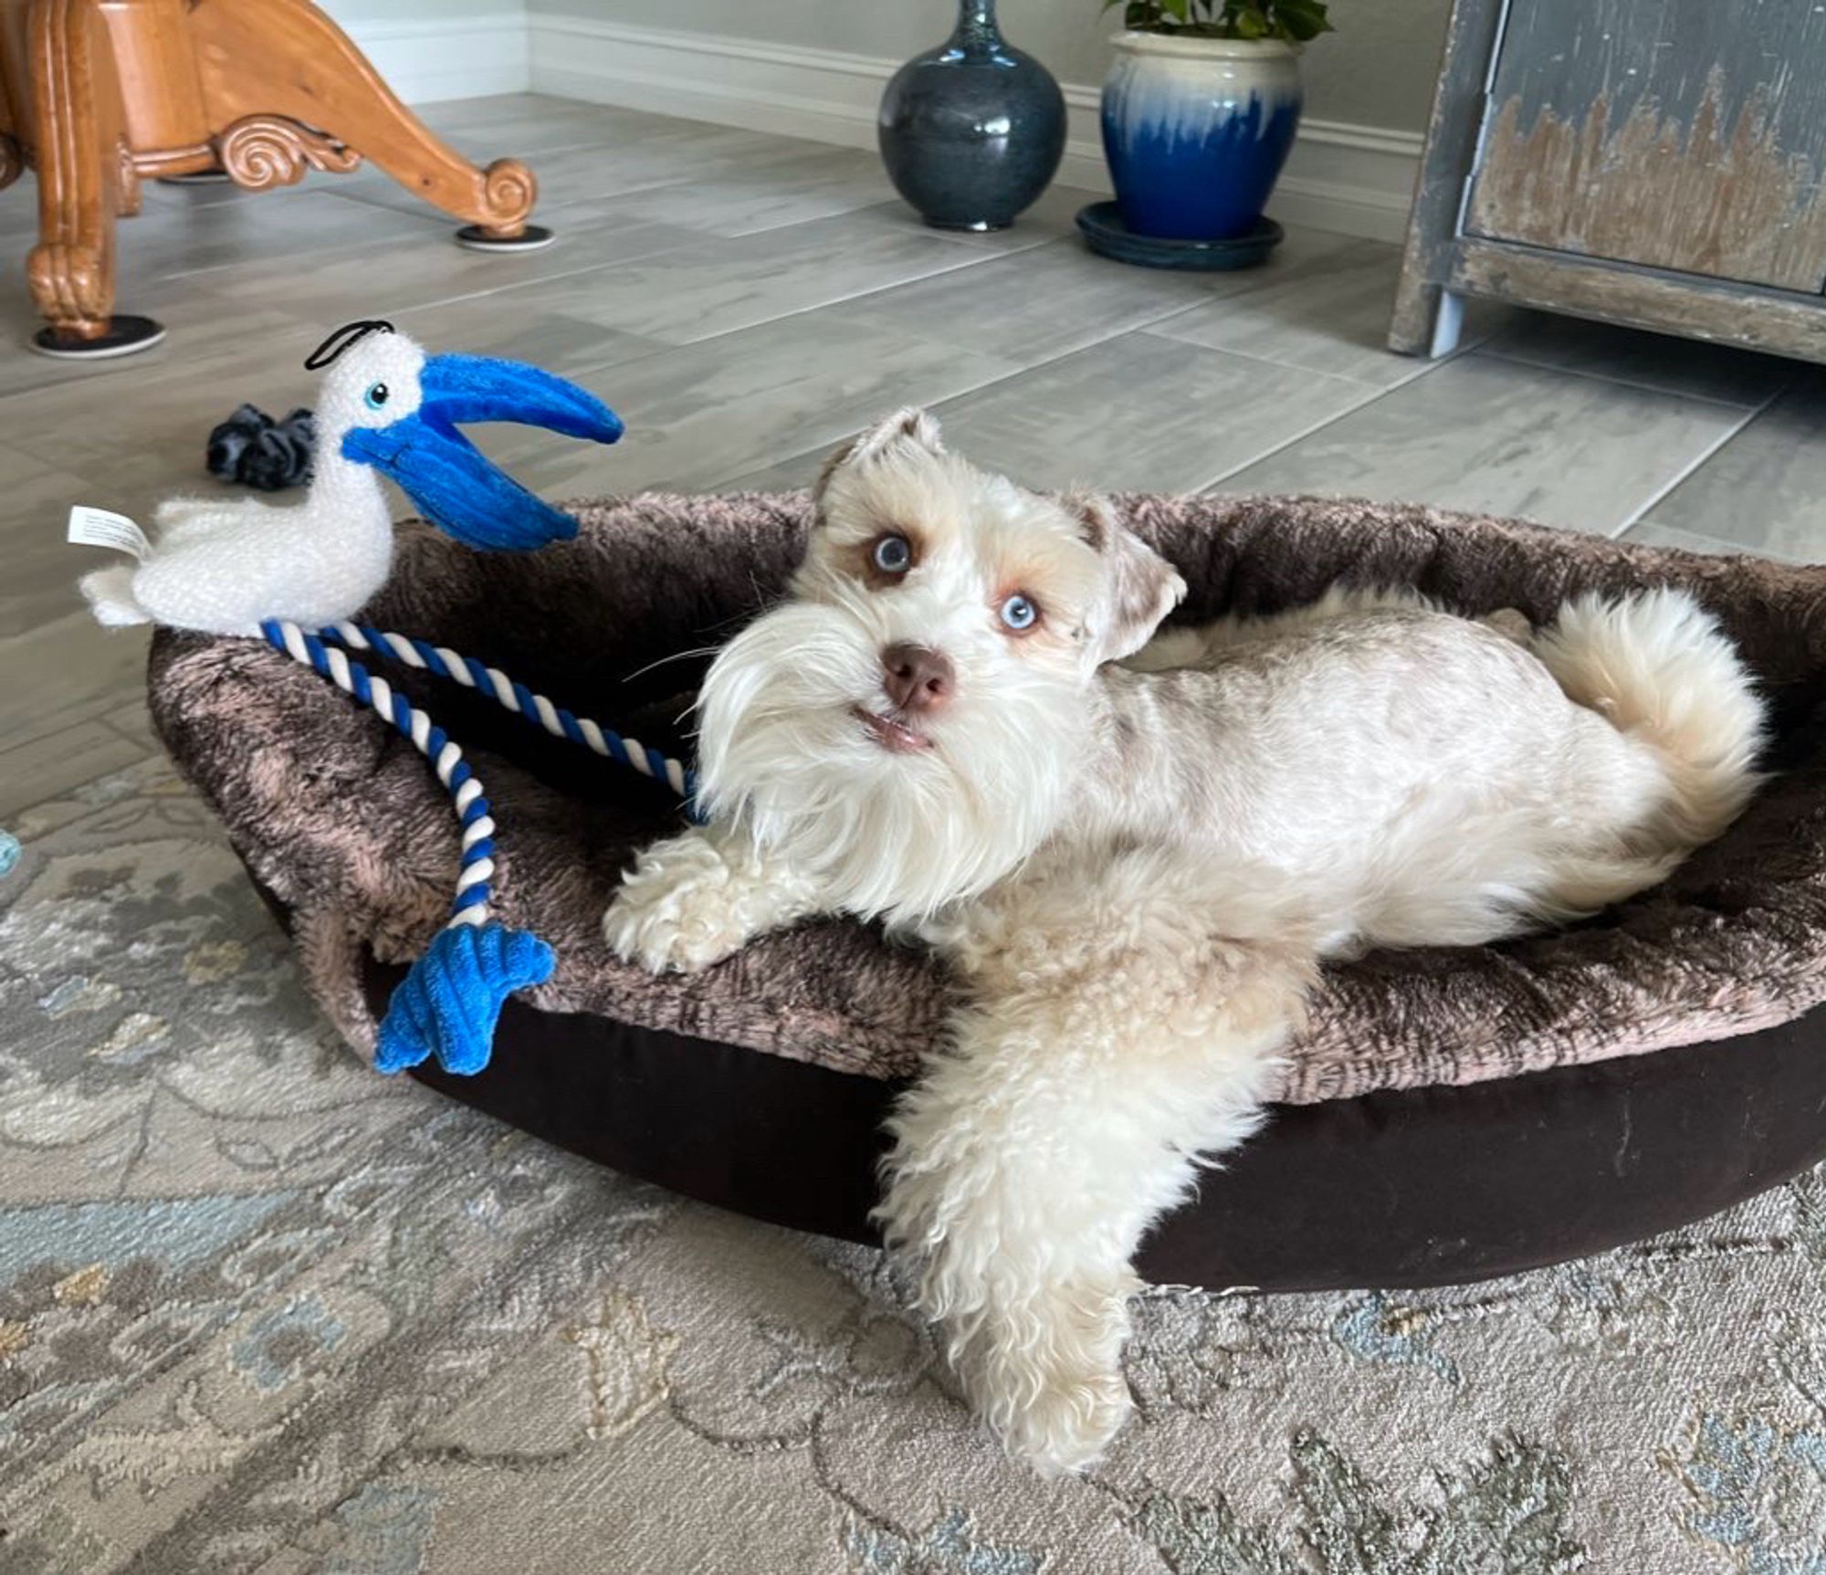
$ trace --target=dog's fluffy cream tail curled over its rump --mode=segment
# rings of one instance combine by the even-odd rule
[[[1762,780],[1764,707],[1737,647],[1685,590],[1579,596],[1534,640],[1567,698],[1647,744],[1667,773],[1640,851],[1667,857],[1709,842]]]

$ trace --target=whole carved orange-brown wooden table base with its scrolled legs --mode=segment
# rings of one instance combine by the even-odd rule
[[[373,159],[464,221],[464,245],[550,243],[517,159],[478,168],[393,95],[310,0],[0,0],[0,186],[38,172],[27,276],[58,356],[124,354],[164,331],[113,312],[113,225],[141,177],[221,170],[243,186]]]

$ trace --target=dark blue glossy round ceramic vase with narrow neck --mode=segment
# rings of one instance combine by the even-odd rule
[[[1002,230],[1065,153],[1065,95],[1002,42],[995,0],[960,0],[957,31],[902,66],[878,121],[887,177],[944,230]]]

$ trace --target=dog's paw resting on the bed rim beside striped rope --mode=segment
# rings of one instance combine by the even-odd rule
[[[708,968],[749,934],[741,884],[714,848],[683,839],[643,857],[603,914],[608,948],[654,974]]]

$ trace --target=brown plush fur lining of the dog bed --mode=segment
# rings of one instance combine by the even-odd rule
[[[1779,775],[1667,884],[1570,930],[1328,968],[1287,1054],[1280,1104],[1437,1096],[1550,1069],[1596,1087],[1605,1078],[1578,1078],[1620,1058],[1757,1034],[1795,1040],[1791,1025],[1826,998],[1826,570],[1417,506],[1143,495],[1119,506],[1191,587],[1176,621],[1295,607],[1340,579],[1417,587],[1472,614],[1516,607],[1536,621],[1576,590],[1687,585],[1726,621],[1777,718]],[[482,656],[579,714],[685,753],[683,711],[708,650],[783,588],[807,501],[643,495],[575,512],[577,541],[524,557],[477,555],[402,528],[393,583],[369,621]],[[497,804],[500,917],[559,952],[553,979],[504,1018],[488,1078],[537,1054],[508,1038],[540,1016],[601,1025],[624,1047],[632,1032],[648,1036],[648,1049],[714,1049],[743,1067],[798,1062],[840,1076],[792,1087],[873,1083],[849,1094],[876,1113],[886,1089],[917,1069],[946,1005],[933,961],[845,921],[763,937],[698,976],[652,978],[615,961],[601,945],[601,912],[632,851],[681,824],[676,802],[451,685],[415,674],[404,687],[466,745]],[[287,917],[318,999],[369,1049],[387,968],[436,932],[455,875],[447,802],[424,762],[256,641],[161,632],[152,702],[173,756]],[[1826,1100],[1826,1071],[1819,1085]],[[707,1087],[714,1094],[716,1083]],[[1786,1087],[1784,1098],[1797,1096]],[[816,1102],[800,1118],[816,1126]],[[537,1127],[526,1113],[522,1124]],[[1826,1144],[1826,1122],[1815,1126]],[[1789,1169],[1810,1157],[1808,1133],[1782,1160]],[[1747,1186],[1749,1171],[1766,1182],[1775,1164],[1771,1153],[1746,1160],[1729,1184]],[[1720,1193],[1713,1206],[1729,1200]],[[794,1217],[765,1197],[754,1204]],[[1505,1263],[1528,1257],[1519,1248]]]

